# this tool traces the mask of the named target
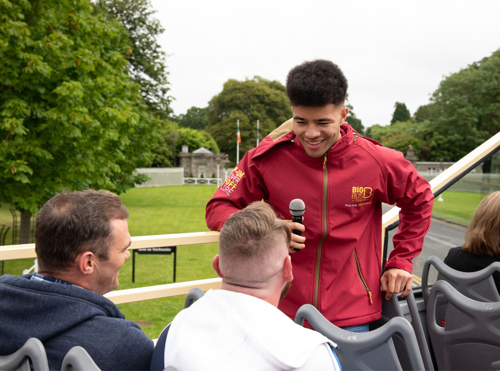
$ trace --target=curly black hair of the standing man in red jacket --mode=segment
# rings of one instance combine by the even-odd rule
[[[292,106],[322,107],[342,104],[347,79],[340,68],[325,59],[306,61],[293,67],[286,76],[286,95]]]

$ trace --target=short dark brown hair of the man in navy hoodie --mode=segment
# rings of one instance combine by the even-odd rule
[[[105,190],[62,192],[41,208],[34,240],[40,271],[67,268],[82,251],[108,259],[113,236],[109,221],[127,219],[119,196]]]

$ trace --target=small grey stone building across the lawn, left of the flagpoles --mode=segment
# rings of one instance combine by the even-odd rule
[[[212,174],[217,176],[217,165],[219,177],[224,177],[224,166],[229,162],[225,153],[213,153],[205,147],[189,152],[186,145],[182,146],[182,152],[178,154],[180,167],[184,168],[184,178],[211,178]],[[192,174],[192,175],[191,175]]]

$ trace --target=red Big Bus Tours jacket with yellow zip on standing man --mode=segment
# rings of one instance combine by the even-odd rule
[[[288,120],[248,151],[206,205],[206,224],[220,230],[252,201],[264,200],[283,219],[289,203],[305,203],[305,248],[291,254],[293,282],[279,308],[294,318],[315,306],[339,327],[380,318],[381,203],[394,204],[399,230],[386,267],[411,273],[430,225],[429,184],[401,152],[360,136],[347,124],[320,158],[309,157]]]

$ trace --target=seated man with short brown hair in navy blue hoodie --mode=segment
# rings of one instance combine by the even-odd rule
[[[62,192],[35,226],[38,272],[0,277],[0,354],[39,339],[50,370],[83,347],[101,370],[147,370],[153,343],[102,295],[130,257],[128,211],[109,191]]]

